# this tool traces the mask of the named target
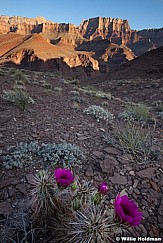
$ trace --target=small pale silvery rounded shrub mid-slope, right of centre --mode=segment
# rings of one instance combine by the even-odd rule
[[[91,105],[85,108],[83,112],[95,117],[98,122],[100,120],[110,121],[114,119],[114,115],[111,112],[97,105]]]

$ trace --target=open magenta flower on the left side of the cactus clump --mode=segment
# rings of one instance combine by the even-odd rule
[[[54,176],[58,187],[67,188],[74,181],[74,176],[68,169],[58,168],[54,171]]]

